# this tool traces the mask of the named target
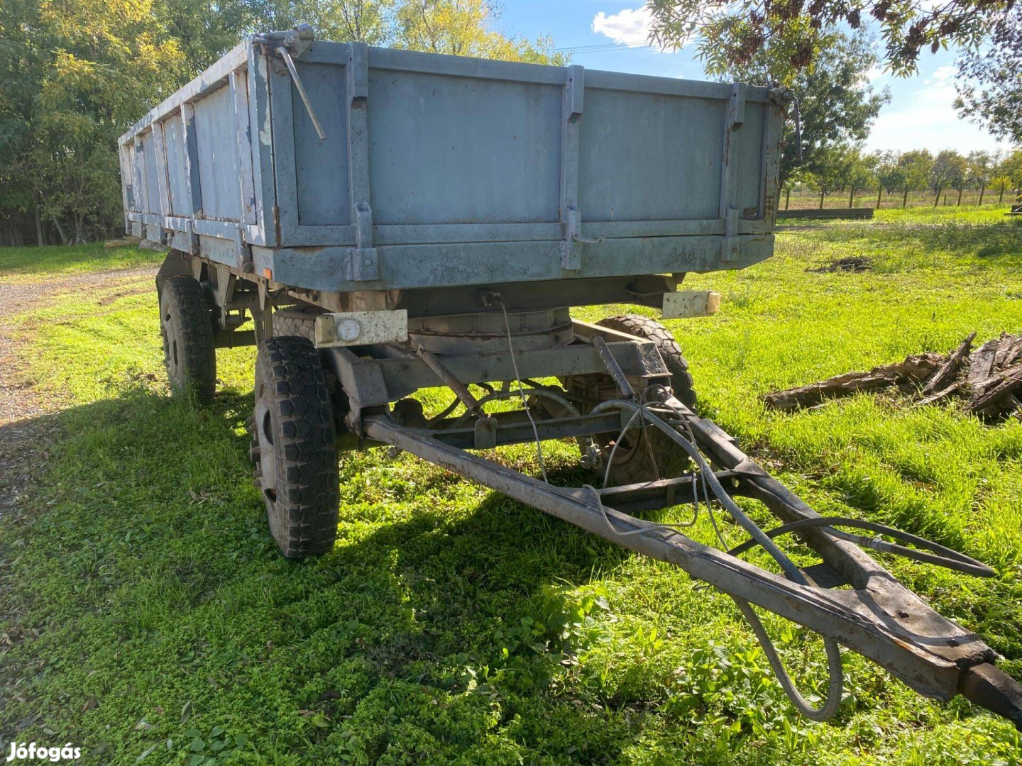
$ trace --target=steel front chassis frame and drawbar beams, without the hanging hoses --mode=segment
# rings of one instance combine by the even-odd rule
[[[515,353],[522,378],[605,373],[607,368],[592,342],[601,337],[636,388],[663,383],[666,371],[653,344],[607,328],[573,324],[574,343]],[[479,355],[445,355],[444,363],[459,378],[464,375],[461,379],[466,383],[511,381],[509,353],[486,354],[489,358],[481,363]],[[350,447],[382,444],[410,452],[587,532],[672,564],[736,600],[832,638],[925,697],[948,701],[964,695],[1022,730],[1022,685],[993,665],[998,655],[974,632],[932,610],[873,557],[840,539],[829,526],[799,530],[801,540],[822,561],[802,570],[808,583],[798,584],[635,516],[691,504],[694,498],[698,502],[703,479],[695,473],[601,490],[559,487],[467,451],[532,442],[537,436],[546,440],[616,432],[626,421],[624,411],[541,418],[535,421],[535,430],[520,411],[495,413],[487,416],[494,423],[481,436],[478,427],[465,425],[465,418],[416,427],[403,424],[388,402],[442,384],[420,358],[398,346],[322,348],[320,354],[350,399],[344,420],[349,436],[354,437],[347,439]],[[688,433],[732,496],[758,500],[783,524],[821,518],[716,424],[672,396],[668,403],[683,415]]]

